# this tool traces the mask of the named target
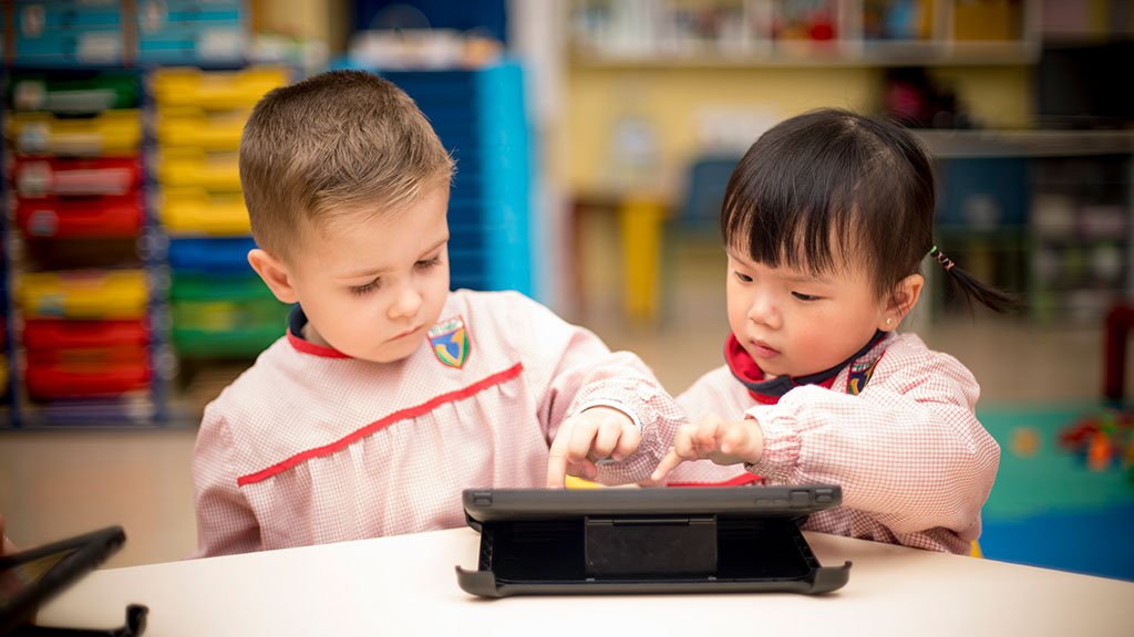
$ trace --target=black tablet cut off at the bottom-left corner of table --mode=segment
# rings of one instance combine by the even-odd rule
[[[0,635],[28,622],[48,600],[58,595],[126,542],[119,526],[112,526],[0,555]]]

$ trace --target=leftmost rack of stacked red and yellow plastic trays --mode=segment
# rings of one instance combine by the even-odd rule
[[[15,68],[7,88],[12,421],[150,422],[141,74]]]

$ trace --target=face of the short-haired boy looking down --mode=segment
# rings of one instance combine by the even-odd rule
[[[400,360],[449,294],[448,184],[393,214],[347,214],[308,232],[288,267],[304,337],[354,358]]]

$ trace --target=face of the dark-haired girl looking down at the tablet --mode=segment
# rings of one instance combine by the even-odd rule
[[[726,291],[736,340],[769,376],[833,367],[902,317],[875,297],[864,271],[814,277],[753,263],[735,249],[728,250]]]

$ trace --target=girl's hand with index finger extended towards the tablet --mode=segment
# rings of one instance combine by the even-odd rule
[[[685,460],[708,458],[718,465],[758,462],[764,452],[764,432],[752,418],[727,422],[716,414],[697,426],[682,425],[674,435],[674,445],[650,475],[658,482]]]

